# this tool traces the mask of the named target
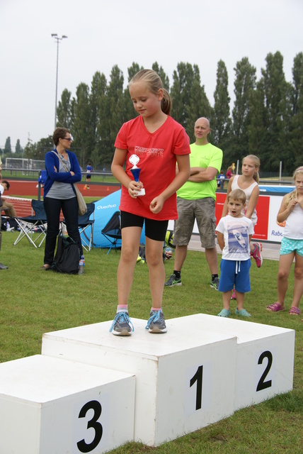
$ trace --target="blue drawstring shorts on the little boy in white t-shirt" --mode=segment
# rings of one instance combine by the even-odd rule
[[[249,280],[249,268],[251,260],[225,260],[220,263],[219,292],[229,292],[234,287],[237,292],[247,293],[251,291]]]

